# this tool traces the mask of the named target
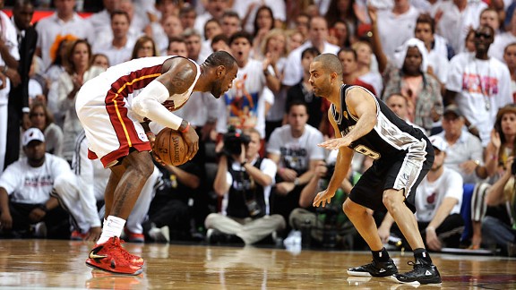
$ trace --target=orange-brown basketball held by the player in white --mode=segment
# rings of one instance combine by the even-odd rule
[[[180,166],[188,161],[186,144],[180,132],[165,128],[159,131],[154,142],[154,153],[167,165]]]

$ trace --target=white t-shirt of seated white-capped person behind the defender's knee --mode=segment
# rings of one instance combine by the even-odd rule
[[[416,192],[416,218],[420,222],[430,222],[437,209],[443,203],[444,198],[451,197],[458,200],[450,214],[460,213],[463,190],[462,177],[456,171],[444,167],[441,175],[433,183],[425,177],[417,186]]]

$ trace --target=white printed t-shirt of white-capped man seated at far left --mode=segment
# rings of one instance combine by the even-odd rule
[[[71,173],[68,162],[50,153],[45,154],[45,163],[39,167],[32,167],[27,158],[20,158],[5,168],[0,187],[4,187],[13,202],[39,204],[50,198],[57,176]]]

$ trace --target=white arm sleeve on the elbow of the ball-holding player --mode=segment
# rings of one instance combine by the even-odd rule
[[[170,93],[161,82],[156,80],[150,81],[138,97],[133,98],[133,111],[156,123],[177,130],[183,119],[172,114],[166,107],[161,105],[169,97]]]

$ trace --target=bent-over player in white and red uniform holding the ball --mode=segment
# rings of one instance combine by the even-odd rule
[[[150,141],[141,123],[151,120],[181,132],[192,159],[199,149],[194,128],[171,111],[193,91],[219,98],[231,88],[238,67],[227,52],[195,64],[180,56],[138,58],[110,67],[86,82],[76,110],[88,139],[90,158],[111,169],[107,183],[106,222],[86,264],[113,273],[138,275],[144,261],[120,245],[120,235],[143,184],[152,174]],[[148,129],[148,126],[146,126]]]

